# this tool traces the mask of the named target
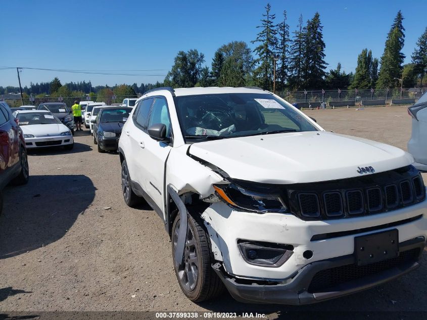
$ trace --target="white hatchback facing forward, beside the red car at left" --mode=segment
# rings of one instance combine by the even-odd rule
[[[45,110],[18,110],[13,113],[24,134],[27,149],[63,146],[65,150],[74,147],[71,130]]]

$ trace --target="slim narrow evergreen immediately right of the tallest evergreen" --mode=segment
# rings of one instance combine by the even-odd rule
[[[278,24],[278,41],[277,41],[277,54],[278,65],[276,71],[276,78],[279,83],[278,88],[283,90],[284,84],[288,79],[289,67],[289,25],[287,24],[287,13],[283,11],[283,21]]]

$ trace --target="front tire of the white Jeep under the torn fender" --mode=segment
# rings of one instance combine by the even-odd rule
[[[213,299],[223,292],[224,285],[212,269],[213,259],[203,221],[198,216],[187,215],[184,262],[175,267],[175,246],[179,233],[179,213],[172,226],[172,260],[176,279],[184,295],[193,302]],[[195,270],[197,270],[195,272]],[[196,281],[194,276],[196,273]],[[193,279],[193,280],[192,280]]]

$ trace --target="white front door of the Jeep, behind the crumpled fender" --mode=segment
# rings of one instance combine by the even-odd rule
[[[168,105],[165,97],[156,97],[151,107],[150,116],[147,124],[149,128],[153,124],[163,123],[166,125],[166,136],[171,138],[171,125],[168,111]],[[141,149],[141,158],[144,159],[146,174],[141,177],[145,180],[145,191],[148,196],[154,200],[157,206],[164,213],[164,181],[166,158],[169,155],[171,146],[169,142],[159,142],[150,137],[147,133],[144,135],[144,148]],[[163,216],[163,218],[165,218]]]

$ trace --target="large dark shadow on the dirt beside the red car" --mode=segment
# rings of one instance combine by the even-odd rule
[[[5,188],[0,259],[62,238],[92,203],[95,190],[85,175],[32,175],[25,186]]]

